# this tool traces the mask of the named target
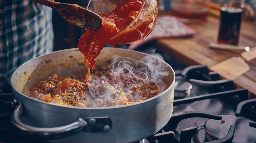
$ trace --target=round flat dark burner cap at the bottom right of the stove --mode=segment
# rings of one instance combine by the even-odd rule
[[[209,141],[223,138],[229,127],[235,125],[235,134],[232,143],[256,142],[256,128],[250,127],[251,120],[232,115],[223,115],[222,120],[208,119],[204,124],[205,136]]]

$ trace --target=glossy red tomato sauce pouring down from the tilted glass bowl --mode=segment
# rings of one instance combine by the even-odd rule
[[[95,69],[95,58],[106,44],[114,47],[116,44],[132,43],[141,40],[145,37],[143,35],[147,35],[153,29],[148,28],[152,21],[145,21],[136,27],[136,30],[128,30],[119,34],[137,17],[141,6],[141,1],[130,0],[117,6],[111,13],[99,14],[103,20],[102,26],[97,31],[86,30],[81,36],[77,47],[83,55],[83,63],[87,66],[86,82],[91,81],[90,66]]]

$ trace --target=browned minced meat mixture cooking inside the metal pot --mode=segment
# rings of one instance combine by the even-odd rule
[[[85,75],[62,77],[57,74],[34,87],[29,96],[48,103],[78,107],[107,107],[137,103],[158,95],[153,82],[144,83],[129,74],[114,74],[110,69],[98,68],[91,73],[92,81],[87,83]],[[150,77],[149,77],[150,78]]]

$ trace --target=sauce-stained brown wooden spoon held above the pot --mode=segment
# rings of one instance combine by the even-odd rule
[[[102,18],[95,12],[80,7],[77,4],[66,4],[54,0],[32,0],[55,9],[66,21],[78,27],[96,31],[102,26]]]

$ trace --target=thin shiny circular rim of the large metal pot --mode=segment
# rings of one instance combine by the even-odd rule
[[[112,47],[104,47],[105,49],[111,49]],[[112,48],[113,49],[113,48]],[[141,53],[141,54],[146,54],[146,55],[149,55],[149,56],[153,56],[153,55],[150,55],[150,54],[147,54],[147,53],[143,53],[143,52],[139,52],[139,51],[135,51],[135,50],[130,50],[130,49],[121,49],[121,48],[115,48],[115,49],[118,49],[118,50],[121,50],[121,51],[132,51],[132,52],[138,52],[138,53]],[[59,51],[54,51],[54,52],[51,52],[49,54],[44,54],[44,55],[41,55],[41,56],[38,56],[38,57],[35,57],[25,63],[23,63],[21,66],[19,66],[11,75],[11,88],[12,90],[15,90],[17,93],[19,93],[20,95],[22,96],[25,96],[26,98],[28,98],[29,100],[33,100],[33,101],[36,101],[36,102],[40,102],[40,103],[43,103],[43,104],[47,104],[47,105],[53,105],[53,106],[60,106],[60,107],[63,107],[63,108],[74,108],[74,109],[82,109],[82,110],[86,110],[86,109],[90,109],[90,110],[99,110],[99,109],[113,109],[113,108],[125,108],[125,107],[129,107],[129,106],[133,106],[133,105],[138,105],[138,104],[142,104],[142,103],[145,103],[145,102],[148,102],[148,101],[151,101],[151,100],[154,100],[156,98],[158,98],[159,96],[163,95],[165,92],[169,91],[170,88],[174,87],[174,84],[175,84],[175,73],[174,73],[174,70],[172,69],[172,67],[167,64],[164,60],[154,56],[155,58],[157,58],[158,60],[164,62],[172,71],[172,74],[174,76],[174,80],[172,81],[172,83],[170,84],[170,86],[168,88],[166,88],[163,92],[161,92],[160,94],[158,94],[157,96],[154,96],[154,97],[151,97],[149,99],[146,99],[146,100],[143,100],[143,101],[140,101],[138,103],[132,103],[132,104],[128,104],[128,105],[118,105],[117,107],[116,106],[109,106],[109,107],[76,107],[76,106],[63,106],[63,105],[59,105],[59,104],[55,104],[55,103],[46,103],[44,101],[41,101],[41,100],[37,100],[37,99],[33,99],[32,97],[29,97],[23,93],[21,93],[20,91],[18,91],[14,85],[13,85],[13,75],[19,70],[20,67],[26,65],[27,63],[31,62],[32,60],[36,60],[42,56],[47,56],[47,55],[51,55],[53,53],[58,53],[58,52],[62,52],[62,51],[72,51],[72,50],[78,50],[78,48],[71,48],[71,49],[64,49],[64,50],[59,50]],[[170,72],[171,74],[171,72]]]

